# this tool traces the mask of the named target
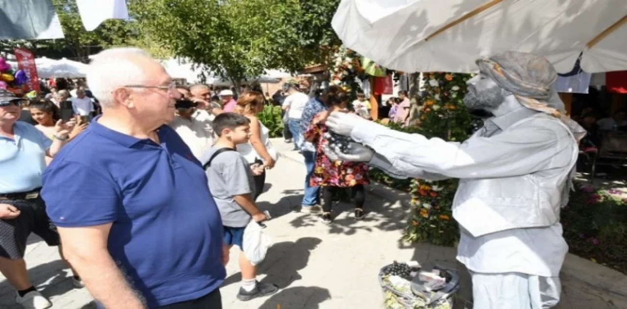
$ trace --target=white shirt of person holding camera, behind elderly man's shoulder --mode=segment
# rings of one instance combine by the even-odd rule
[[[213,146],[213,128],[211,122],[215,118],[205,110],[196,110],[192,114],[192,120],[179,117],[178,115],[168,124],[179,134],[183,142],[192,150],[196,159]]]

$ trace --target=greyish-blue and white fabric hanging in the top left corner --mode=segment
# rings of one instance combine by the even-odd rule
[[[62,39],[51,0],[0,1],[0,39]]]

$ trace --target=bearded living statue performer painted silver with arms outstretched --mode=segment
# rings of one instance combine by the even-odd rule
[[[335,112],[327,126],[357,143],[331,159],[369,162],[397,177],[459,178],[457,259],[470,270],[474,308],[551,308],[568,251],[565,206],[585,131],[565,116],[545,58],[508,51],[477,60],[464,104],[494,117],[463,143],[390,130]]]

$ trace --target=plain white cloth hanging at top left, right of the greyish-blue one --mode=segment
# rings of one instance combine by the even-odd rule
[[[125,0],[76,0],[76,5],[87,31],[93,31],[107,19],[129,19]]]

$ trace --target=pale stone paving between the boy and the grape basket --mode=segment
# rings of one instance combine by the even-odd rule
[[[381,308],[382,293],[376,275],[384,264],[393,260],[436,261],[461,268],[455,261],[453,248],[429,244],[408,246],[398,242],[408,211],[398,202],[367,196],[367,217],[360,222],[352,218],[352,206],[339,204],[334,207],[337,217],[330,226],[319,223],[316,216],[298,212],[305,168],[298,162],[297,154],[288,151],[291,145],[279,140],[274,143],[288,157],[297,160],[280,159],[277,167],[268,173],[267,192],[260,197],[260,206],[273,216],[266,233],[275,244],[260,265],[259,279],[276,283],[282,290],[246,303],[236,300],[241,276],[238,253],[233,250],[227,266],[228,276],[221,288],[224,308]],[[93,308],[86,289],[72,288],[66,265],[59,260],[55,248],[33,237],[27,250],[29,275],[42,293],[51,298],[53,308]],[[466,274],[463,269],[460,273]],[[564,293],[558,308],[627,308],[627,302],[608,297],[581,281],[562,280]],[[469,298],[467,292],[461,294]],[[14,304],[13,288],[1,276],[0,308],[20,308]]]

